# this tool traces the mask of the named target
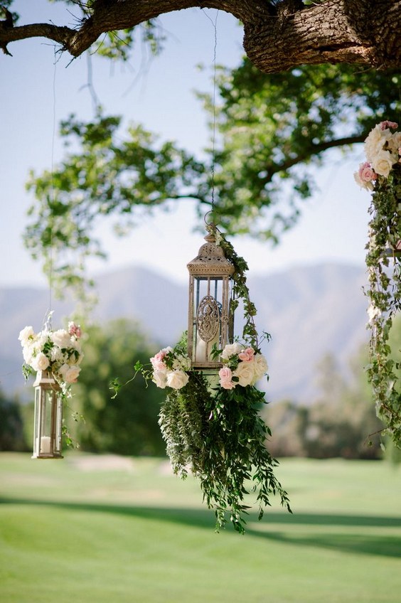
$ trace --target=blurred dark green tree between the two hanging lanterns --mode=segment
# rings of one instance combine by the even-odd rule
[[[113,452],[127,455],[163,456],[158,415],[162,390],[146,387],[141,375],[132,380],[134,364],[149,363],[156,348],[139,326],[127,320],[110,321],[87,329],[82,373],[74,385],[71,410],[83,420],[68,420],[68,428],[88,452]],[[112,399],[110,382],[117,378],[124,385]]]

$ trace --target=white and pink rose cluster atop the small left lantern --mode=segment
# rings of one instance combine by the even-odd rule
[[[48,370],[60,385],[63,394],[67,394],[71,383],[77,381],[83,353],[80,342],[80,326],[68,323],[68,329],[52,331],[45,326],[43,331],[35,333],[32,326],[26,326],[19,333],[23,360],[23,373],[26,377],[38,370]]]

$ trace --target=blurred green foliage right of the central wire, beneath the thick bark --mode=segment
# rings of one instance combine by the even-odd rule
[[[325,151],[348,151],[378,118],[395,119],[400,85],[397,73],[356,72],[348,65],[266,76],[245,60],[221,70],[215,222],[231,233],[278,242],[316,191],[313,174]],[[203,98],[212,112],[210,97]]]

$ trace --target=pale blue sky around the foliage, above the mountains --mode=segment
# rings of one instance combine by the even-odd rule
[[[62,3],[20,0],[15,9],[19,9],[21,24],[73,23]],[[201,153],[209,132],[194,90],[211,90],[215,34],[210,18],[215,16],[216,11],[201,9],[162,16],[169,39],[164,53],[151,61],[140,44],[129,65],[110,65],[92,56],[92,82],[105,112],[124,115],[125,124],[141,122],[162,139],[175,139],[188,151]],[[223,12],[218,14],[217,40],[217,62],[237,65],[242,56],[242,29]],[[53,150],[54,121],[57,129],[60,119],[72,112],[83,119],[92,117],[88,63],[85,57],[70,63],[68,55],[55,63],[53,44],[41,38],[11,44],[9,50],[12,58],[0,55],[0,287],[44,286],[40,264],[30,259],[21,242],[26,210],[33,201],[24,184],[29,170],[40,174],[63,156],[57,134]],[[198,70],[199,63],[207,69]],[[284,235],[279,247],[272,249],[245,237],[233,240],[253,273],[326,261],[363,264],[370,196],[353,181],[360,161],[362,148],[342,161],[338,154],[331,154],[317,174],[320,191],[305,204],[299,225]],[[186,282],[186,263],[196,255],[202,236],[193,233],[197,220],[191,201],[171,206],[171,212],[146,218],[121,240],[112,235],[112,220],[100,224],[97,235],[109,260],[91,262],[92,274],[140,264]]]

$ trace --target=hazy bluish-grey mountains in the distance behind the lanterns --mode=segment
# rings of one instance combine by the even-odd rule
[[[314,369],[332,353],[346,367],[363,341],[366,306],[360,267],[324,264],[248,278],[257,306],[257,326],[272,335],[264,346],[269,362],[267,398],[291,397],[307,402],[315,393]],[[161,345],[173,345],[186,329],[187,289],[150,270],[127,268],[97,278],[95,321],[136,319]],[[18,333],[31,324],[40,330],[48,308],[46,289],[0,289],[0,387],[8,393],[23,388]],[[55,302],[55,326],[73,311]]]

